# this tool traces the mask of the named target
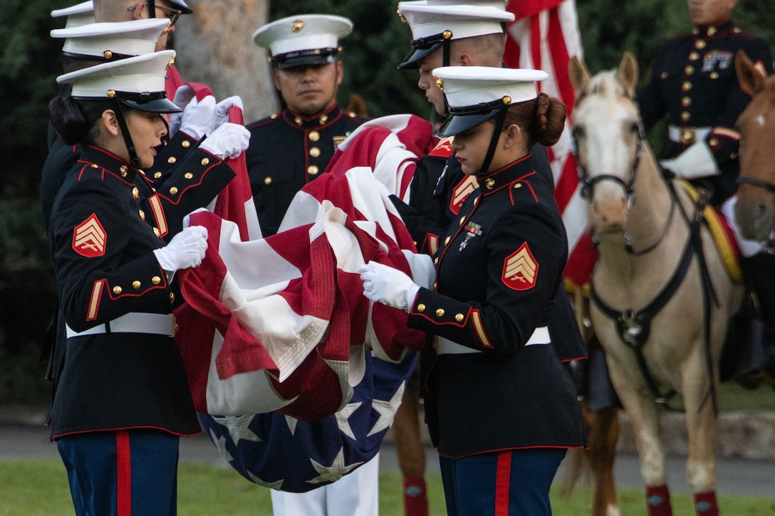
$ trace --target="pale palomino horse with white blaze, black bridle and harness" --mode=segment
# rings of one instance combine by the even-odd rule
[[[649,514],[671,514],[660,404],[684,399],[687,476],[696,502],[715,504],[718,358],[742,287],[725,272],[697,208],[660,173],[633,93],[638,65],[590,77],[574,58],[573,136],[596,232],[592,328],[634,430]],[[666,404],[666,403],[665,403]]]

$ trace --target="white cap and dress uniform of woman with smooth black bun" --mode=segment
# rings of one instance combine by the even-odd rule
[[[58,81],[74,84],[74,99],[102,91],[107,101],[116,88],[114,102],[174,112],[164,93],[173,54],[101,64]],[[136,166],[84,145],[51,211],[66,323],[51,358],[51,437],[79,515],[175,514],[178,437],[200,432],[173,336],[171,274],[154,253],[164,241],[143,219],[135,181],[145,181]]]

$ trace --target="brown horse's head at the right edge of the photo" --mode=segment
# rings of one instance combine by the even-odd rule
[[[745,52],[735,56],[743,90],[753,95],[737,120],[740,177],[735,218],[742,236],[765,240],[775,225],[775,75],[766,77]]]

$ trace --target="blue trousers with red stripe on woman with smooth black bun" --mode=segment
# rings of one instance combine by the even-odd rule
[[[66,435],[57,449],[77,516],[174,516],[177,435],[119,430]]]

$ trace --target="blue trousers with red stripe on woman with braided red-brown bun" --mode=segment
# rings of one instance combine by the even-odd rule
[[[439,456],[448,516],[551,516],[549,487],[566,449]]]

